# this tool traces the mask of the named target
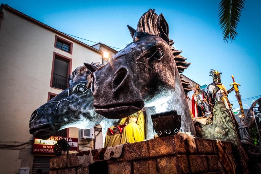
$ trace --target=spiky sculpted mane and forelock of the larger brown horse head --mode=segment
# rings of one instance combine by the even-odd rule
[[[134,33],[136,32],[132,27],[128,26],[129,31],[133,37]],[[146,13],[144,13],[138,22],[137,25],[137,32],[144,32],[148,33],[151,35],[156,35],[158,37],[161,37],[162,39],[166,40],[166,37],[169,38],[168,36],[168,31],[169,31],[169,26],[167,21],[164,19],[163,14],[160,14],[159,16],[155,13],[155,9],[149,9]],[[163,31],[163,34],[162,32]],[[164,30],[167,31],[167,33],[164,33]],[[187,58],[183,57],[180,55],[182,51],[175,50],[175,48],[172,46],[174,44],[173,40],[168,40],[169,41],[169,46],[172,50],[174,60],[177,65],[177,69],[179,73],[182,73],[185,69],[188,68],[188,66],[191,63],[186,62]],[[181,83],[183,86],[183,89],[185,91],[185,94],[187,94],[189,91],[193,89],[191,86],[191,82],[187,82],[182,79],[182,76],[180,76]]]

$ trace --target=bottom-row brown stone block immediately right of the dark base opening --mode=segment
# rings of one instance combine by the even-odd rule
[[[120,162],[120,163],[109,163],[108,174],[130,174],[131,173],[131,162]]]

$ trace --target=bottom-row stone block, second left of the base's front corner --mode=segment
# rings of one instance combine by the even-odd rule
[[[157,173],[157,167],[156,167],[156,161],[151,160],[139,160],[139,161],[133,161],[133,173],[139,173],[139,174],[154,174]]]

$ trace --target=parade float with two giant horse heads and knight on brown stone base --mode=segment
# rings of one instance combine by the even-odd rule
[[[217,80],[209,88],[211,122],[193,122],[185,95],[192,88],[180,76],[190,63],[172,46],[164,16],[150,9],[141,16],[136,30],[128,29],[132,43],[106,65],[85,63],[76,68],[70,75],[69,88],[35,110],[29,126],[34,137],[48,139],[60,129],[88,129],[100,124],[105,140],[108,128],[145,109],[144,141],[132,137],[132,143],[128,143],[132,134],[126,131],[137,131],[128,123],[123,129],[126,134],[118,137],[124,136],[125,142],[52,158],[50,173],[249,173],[237,122],[223,102],[226,96],[216,90],[224,89],[228,94],[219,84],[220,73],[211,72],[214,82]],[[158,130],[155,139],[156,121],[151,116],[166,111],[173,112],[168,119],[156,119],[157,124],[166,125],[162,131],[169,136],[163,137]],[[171,125],[179,125],[180,130],[171,130]],[[244,137],[250,141],[245,127],[240,128],[241,142]],[[62,145],[56,148],[62,149]]]

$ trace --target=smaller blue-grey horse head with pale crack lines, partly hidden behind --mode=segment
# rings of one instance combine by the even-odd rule
[[[99,63],[85,63],[84,66],[76,68],[69,77],[69,88],[32,113],[30,134],[36,138],[48,139],[64,128],[89,129],[100,124],[105,139],[105,129],[117,125],[120,120],[108,119],[94,112],[93,94],[87,88],[87,77],[99,66]]]

